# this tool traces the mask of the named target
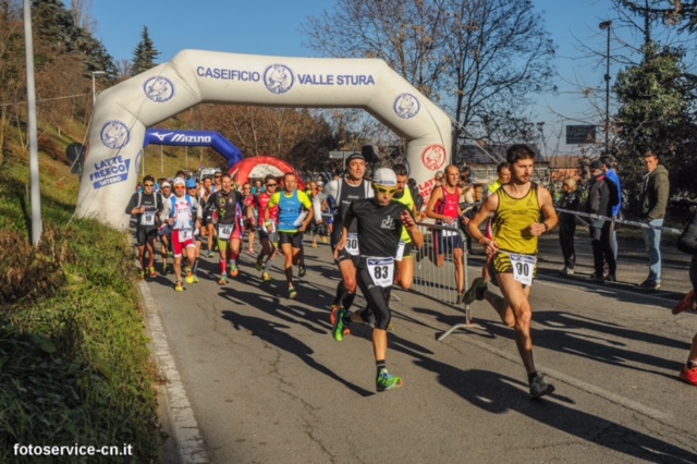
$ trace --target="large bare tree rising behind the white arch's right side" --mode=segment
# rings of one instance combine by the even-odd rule
[[[339,0],[302,30],[325,54],[384,60],[451,113],[454,146],[519,139],[530,96],[551,88],[554,49],[530,0]]]

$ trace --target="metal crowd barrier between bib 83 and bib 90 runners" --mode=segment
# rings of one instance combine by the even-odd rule
[[[438,338],[443,340],[454,330],[464,327],[473,327],[469,306],[464,302],[457,302],[457,285],[455,283],[455,262],[453,260],[452,242],[458,236],[463,243],[463,265],[465,274],[465,290],[469,288],[467,276],[467,236],[460,229],[436,225],[427,222],[417,222],[419,231],[424,234],[424,246],[414,253],[414,283],[412,290],[420,295],[429,297],[439,303],[449,305],[465,314],[465,322],[453,326],[450,330]],[[442,231],[456,232],[455,235],[444,236],[445,249],[442,249],[442,266],[438,266],[438,239],[437,234]]]

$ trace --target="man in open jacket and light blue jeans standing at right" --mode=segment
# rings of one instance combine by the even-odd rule
[[[644,282],[639,283],[639,286],[658,290],[661,288],[661,227],[668,207],[670,181],[668,170],[659,164],[659,158],[655,151],[646,152],[644,166],[647,172],[641,184],[639,219],[649,225],[641,229],[649,255],[649,274]]]

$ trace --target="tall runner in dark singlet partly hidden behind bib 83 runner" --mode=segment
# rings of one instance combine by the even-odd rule
[[[337,294],[331,304],[331,323],[334,323],[337,312],[340,308],[351,309],[354,298],[356,297],[356,264],[358,257],[358,237],[357,229],[354,223],[348,230],[346,245],[339,255],[335,254],[337,245],[343,233],[343,219],[348,210],[348,206],[356,199],[369,198],[372,196],[370,183],[363,178],[366,174],[366,159],[359,152],[354,152],[346,158],[346,176],[344,179],[333,180],[329,182],[325,188],[328,200],[333,202],[334,218],[333,228],[330,237],[334,260],[341,272],[341,281],[337,285]],[[322,223],[321,217],[321,196],[314,203],[316,221]]]

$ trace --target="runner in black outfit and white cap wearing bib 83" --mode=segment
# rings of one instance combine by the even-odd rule
[[[394,278],[394,256],[398,253],[402,230],[406,229],[413,243],[420,247],[424,235],[416,227],[409,208],[393,202],[396,192],[396,175],[388,168],[380,168],[372,178],[375,197],[355,200],[348,206],[343,222],[342,237],[337,244],[334,257],[345,248],[351,225],[358,228],[357,280],[360,291],[368,302],[368,308],[360,313],[348,314],[339,309],[333,325],[333,337],[343,340],[344,328],[353,322],[364,323],[371,313],[375,317],[372,329],[372,351],[377,367],[376,388],[379,392],[402,387],[402,378],[392,376],[386,365],[388,354],[388,326],[392,317],[390,312],[390,290]]]

